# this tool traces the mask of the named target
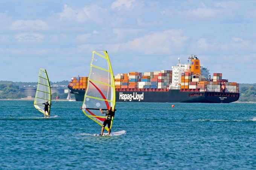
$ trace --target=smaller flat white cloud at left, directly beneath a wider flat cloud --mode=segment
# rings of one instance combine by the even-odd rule
[[[20,33],[14,35],[14,38],[19,43],[41,43],[44,41],[44,35],[39,33]]]

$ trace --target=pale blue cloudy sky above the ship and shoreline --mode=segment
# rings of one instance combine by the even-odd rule
[[[91,51],[114,74],[171,70],[195,54],[223,79],[256,83],[254,0],[1,0],[0,80],[88,76]]]

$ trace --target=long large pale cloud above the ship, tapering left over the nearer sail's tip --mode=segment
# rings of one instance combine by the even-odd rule
[[[128,42],[116,44],[84,44],[78,47],[78,52],[91,51],[94,49],[105,49],[112,53],[139,53],[141,55],[159,55],[179,53],[184,48],[187,37],[182,35],[182,30],[166,30],[164,32],[155,32]],[[90,50],[88,50],[90,49]]]

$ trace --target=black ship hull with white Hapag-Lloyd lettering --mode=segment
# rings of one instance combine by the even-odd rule
[[[69,87],[76,101],[84,101],[85,90]],[[154,91],[116,91],[116,102],[183,102],[183,103],[231,103],[239,99],[239,93],[227,92],[181,92],[169,90]]]

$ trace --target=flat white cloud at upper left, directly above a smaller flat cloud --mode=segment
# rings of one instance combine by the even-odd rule
[[[48,30],[49,26],[42,20],[18,20],[11,24],[12,30]]]

